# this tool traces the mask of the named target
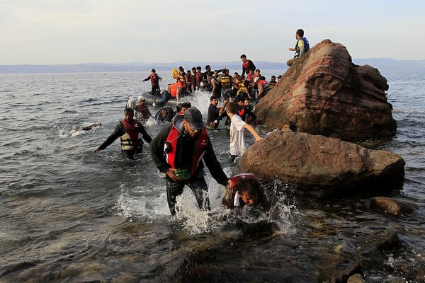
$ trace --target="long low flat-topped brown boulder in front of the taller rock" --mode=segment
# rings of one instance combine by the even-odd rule
[[[274,131],[249,146],[239,167],[263,180],[293,185],[296,192],[323,196],[368,187],[399,188],[404,164],[403,158],[390,151],[307,133]]]

